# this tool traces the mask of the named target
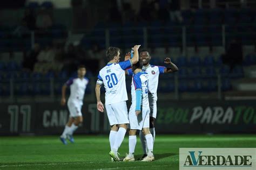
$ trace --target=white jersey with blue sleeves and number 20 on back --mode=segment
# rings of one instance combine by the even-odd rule
[[[105,104],[113,104],[127,101],[127,91],[125,83],[125,69],[132,66],[131,60],[119,63],[107,63],[99,71],[97,84],[104,84]]]

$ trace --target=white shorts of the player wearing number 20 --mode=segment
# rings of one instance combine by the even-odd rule
[[[126,101],[113,104],[106,104],[107,118],[109,124],[129,124]]]

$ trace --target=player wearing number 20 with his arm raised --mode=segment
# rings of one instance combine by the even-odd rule
[[[125,69],[130,68],[139,61],[139,46],[135,45],[133,47],[133,58],[123,62],[119,62],[120,49],[109,47],[106,51],[109,63],[99,71],[95,87],[97,109],[100,112],[104,111],[104,105],[100,101],[100,87],[104,84],[106,90],[105,107],[111,126],[109,134],[111,151],[109,154],[114,161],[119,161],[118,148],[124,140],[127,124],[129,124],[126,105],[128,97],[125,84]]]

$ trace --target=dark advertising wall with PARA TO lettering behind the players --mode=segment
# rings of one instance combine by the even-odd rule
[[[255,101],[158,101],[158,133],[255,133]],[[0,104],[0,135],[60,134],[69,118],[59,103]],[[107,133],[106,113],[95,103],[83,106],[77,133]]]

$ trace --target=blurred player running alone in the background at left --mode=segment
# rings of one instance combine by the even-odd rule
[[[62,87],[62,105],[66,104],[66,88],[70,87],[70,96],[68,100],[70,118],[62,135],[60,136],[60,140],[64,145],[67,144],[67,138],[71,143],[74,142],[73,132],[75,132],[78,128],[78,125],[83,122],[81,109],[83,105],[84,92],[87,84],[89,83],[89,80],[84,77],[86,74],[86,68],[84,65],[78,66],[77,73],[77,77],[68,80]]]

